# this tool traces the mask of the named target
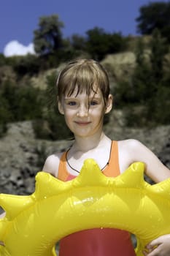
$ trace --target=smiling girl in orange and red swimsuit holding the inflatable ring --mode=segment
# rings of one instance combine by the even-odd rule
[[[93,158],[106,176],[115,177],[132,162],[144,162],[145,173],[159,182],[170,177],[169,169],[137,140],[112,141],[103,132],[104,115],[112,109],[107,72],[96,61],[69,62],[57,81],[58,110],[74,134],[74,142],[63,154],[47,157],[43,170],[62,181],[79,175],[85,159]],[[152,249],[153,246],[157,246]],[[152,241],[147,256],[170,255],[170,235]],[[83,230],[60,242],[60,256],[133,256],[128,232],[117,229]]]

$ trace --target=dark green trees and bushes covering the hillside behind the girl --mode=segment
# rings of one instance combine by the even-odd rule
[[[6,58],[0,54],[0,136],[7,131],[9,122],[33,120],[38,138],[72,137],[56,108],[57,73],[47,76],[47,89],[37,89],[30,78],[72,58],[85,56],[102,61],[107,54],[129,50],[131,37],[121,33],[110,34],[95,27],[88,30],[85,37],[73,34],[63,38],[63,26],[58,15],[43,16],[34,31],[35,56]],[[136,67],[133,75],[122,78],[115,88],[117,108],[125,111],[129,126],[170,124],[170,67],[166,64],[170,2],[157,1],[142,6],[136,29],[139,32],[134,47]],[[142,40],[146,34],[151,38],[147,46]],[[148,49],[149,58],[146,58]],[[7,78],[1,75],[3,69],[9,72]]]

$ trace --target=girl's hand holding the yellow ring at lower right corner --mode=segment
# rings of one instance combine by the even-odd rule
[[[170,234],[164,235],[151,241],[146,246],[147,252],[144,251],[144,256],[169,256],[170,255]]]

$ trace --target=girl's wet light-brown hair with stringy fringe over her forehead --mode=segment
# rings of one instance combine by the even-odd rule
[[[83,91],[90,96],[91,91],[101,90],[106,104],[109,97],[109,78],[106,70],[93,59],[76,59],[66,64],[57,80],[58,100],[64,96],[76,96]]]

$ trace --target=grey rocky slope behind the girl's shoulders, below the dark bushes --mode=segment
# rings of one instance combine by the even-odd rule
[[[148,146],[170,167],[170,126],[134,129],[124,126],[123,113],[110,115],[105,132],[113,140],[136,138]],[[46,157],[64,151],[72,142],[36,140],[31,121],[9,124],[0,140],[0,187],[2,193],[28,195],[34,192],[34,178],[42,170]]]

